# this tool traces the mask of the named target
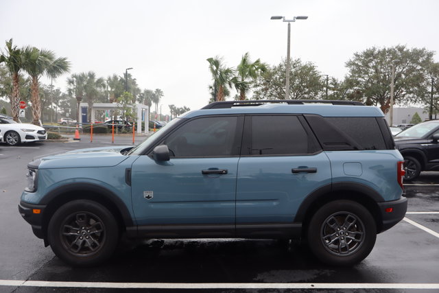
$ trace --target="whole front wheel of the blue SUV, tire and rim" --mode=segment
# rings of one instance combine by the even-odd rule
[[[96,266],[115,252],[119,227],[102,204],[73,200],[54,213],[47,238],[55,255],[71,266]]]

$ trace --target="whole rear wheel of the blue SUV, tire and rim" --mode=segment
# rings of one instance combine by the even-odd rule
[[[323,263],[353,266],[365,259],[377,239],[369,211],[357,202],[335,200],[313,215],[307,229],[309,248]]]

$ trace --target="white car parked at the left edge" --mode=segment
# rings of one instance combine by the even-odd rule
[[[8,117],[0,116],[0,141],[8,145],[45,141],[47,132],[43,127],[34,124],[16,123]]]

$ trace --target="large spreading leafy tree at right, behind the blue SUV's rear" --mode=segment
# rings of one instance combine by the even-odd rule
[[[431,65],[433,56],[434,52],[425,48],[372,47],[355,53],[346,62],[347,79],[355,81],[353,89],[360,91],[364,100],[381,106],[385,113],[390,106],[392,61],[395,66],[394,102],[408,104],[418,101],[418,95],[425,87],[425,69]]]

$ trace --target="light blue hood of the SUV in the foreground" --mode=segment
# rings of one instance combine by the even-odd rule
[[[125,161],[128,156],[124,156],[122,152],[131,148],[132,145],[111,148],[86,148],[62,154],[51,154],[35,158],[34,161],[29,163],[29,167],[38,169],[112,167]]]

